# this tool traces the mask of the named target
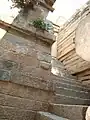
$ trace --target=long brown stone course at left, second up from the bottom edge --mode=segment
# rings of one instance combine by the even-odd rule
[[[0,105],[34,111],[48,110],[48,103],[5,94],[0,94]]]

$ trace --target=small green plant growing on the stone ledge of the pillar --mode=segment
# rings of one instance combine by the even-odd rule
[[[32,21],[31,24],[34,27],[40,28],[42,30],[47,30],[47,31],[53,30],[52,24],[50,22],[44,21],[41,18],[38,18],[38,19]]]

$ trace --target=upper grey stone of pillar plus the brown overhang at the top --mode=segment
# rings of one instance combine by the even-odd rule
[[[49,11],[53,11],[52,5],[56,0],[37,0],[38,5],[34,5],[34,9],[28,9],[27,12],[22,10],[19,12],[17,17],[14,19],[13,25],[17,27],[27,28],[33,20],[37,18],[46,19]]]

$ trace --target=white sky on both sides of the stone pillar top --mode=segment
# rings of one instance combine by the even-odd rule
[[[64,20],[67,20],[76,9],[80,8],[85,4],[87,0],[56,0],[54,5],[55,11],[49,13],[48,19],[56,22],[58,17],[63,17]],[[12,16],[17,15],[17,9],[10,9],[12,3],[8,0],[0,0],[0,18],[11,23]]]

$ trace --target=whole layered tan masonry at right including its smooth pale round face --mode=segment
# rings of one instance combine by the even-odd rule
[[[89,57],[89,52],[85,54],[85,50],[89,51],[89,21],[90,0],[60,28],[57,38],[58,59],[63,62],[69,73],[76,75],[78,81],[88,86],[90,86],[90,62],[82,55]]]

